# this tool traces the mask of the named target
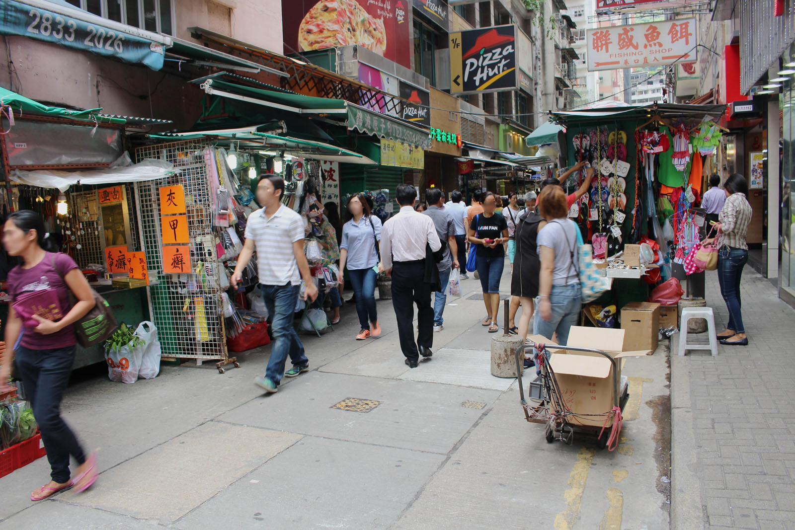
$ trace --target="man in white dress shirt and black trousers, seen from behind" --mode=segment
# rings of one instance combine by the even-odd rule
[[[417,368],[420,355],[433,353],[432,286],[425,282],[425,246],[441,248],[436,226],[428,215],[414,211],[417,189],[410,184],[397,187],[400,211],[381,230],[381,261],[392,277],[392,307],[397,318],[397,335],[405,364]],[[434,264],[435,265],[435,264]],[[414,306],[417,304],[417,341],[414,341]]]

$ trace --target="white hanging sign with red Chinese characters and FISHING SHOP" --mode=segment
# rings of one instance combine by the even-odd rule
[[[588,72],[696,60],[696,19],[586,29]]]

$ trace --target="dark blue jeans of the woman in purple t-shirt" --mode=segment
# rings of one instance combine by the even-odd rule
[[[59,484],[69,480],[69,456],[78,464],[86,455],[75,433],[60,417],[60,400],[75,362],[75,346],[57,350],[29,350],[19,346],[16,351],[17,368],[25,385],[25,393],[39,424],[41,441],[45,443],[50,477]]]

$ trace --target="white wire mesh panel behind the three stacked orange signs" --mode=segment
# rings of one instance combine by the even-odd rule
[[[147,145],[136,149],[135,157],[138,162],[159,158],[172,162],[179,170],[164,179],[135,184],[139,232],[151,283],[150,311],[157,326],[162,356],[195,358],[198,364],[211,359],[227,359],[219,282],[221,271],[215,257],[212,199],[207,178],[208,164],[213,163],[210,145],[196,141]],[[164,250],[169,246],[163,243],[160,188],[176,184],[184,188],[190,240],[189,273],[164,273],[173,263],[164,263]],[[188,270],[187,265],[183,265],[184,270]]]

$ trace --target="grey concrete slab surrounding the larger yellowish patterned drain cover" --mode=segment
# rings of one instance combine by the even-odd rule
[[[447,453],[481,413],[461,404],[467,400],[490,404],[498,395],[493,390],[310,372],[283,392],[244,404],[219,420]],[[380,404],[366,413],[332,408],[348,397]]]

